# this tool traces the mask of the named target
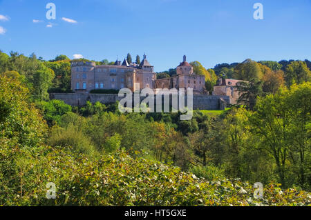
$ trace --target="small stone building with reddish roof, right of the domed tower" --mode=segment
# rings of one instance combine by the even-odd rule
[[[237,104],[238,90],[236,86],[243,80],[237,79],[218,79],[216,86],[214,86],[213,95],[225,95],[230,98],[230,104]]]

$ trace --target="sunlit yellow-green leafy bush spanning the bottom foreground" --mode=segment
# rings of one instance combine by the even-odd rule
[[[263,199],[239,179],[207,181],[119,151],[90,161],[69,149],[0,143],[0,206],[308,206],[310,193],[270,183]],[[46,199],[46,183],[56,199]]]

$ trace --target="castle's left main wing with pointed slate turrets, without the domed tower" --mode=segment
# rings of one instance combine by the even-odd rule
[[[129,88],[137,90],[135,83],[141,88],[154,88],[156,73],[147,61],[146,55],[140,65],[115,61],[114,65],[97,66],[95,62],[71,62],[71,88],[77,93],[88,93],[91,90],[120,90]]]

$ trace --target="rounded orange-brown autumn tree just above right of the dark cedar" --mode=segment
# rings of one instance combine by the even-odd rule
[[[266,72],[263,75],[263,92],[274,94],[284,83],[284,72],[282,70]]]

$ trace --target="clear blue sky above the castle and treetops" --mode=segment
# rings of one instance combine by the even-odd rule
[[[46,19],[49,2],[55,20]],[[263,20],[253,18],[257,2]],[[157,72],[184,54],[205,68],[247,58],[311,60],[311,0],[0,0],[0,27],[3,52],[96,61],[146,52]]]

